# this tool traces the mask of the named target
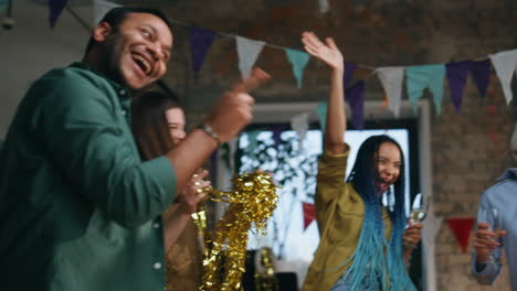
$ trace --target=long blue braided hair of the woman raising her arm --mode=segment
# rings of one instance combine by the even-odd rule
[[[384,236],[382,195],[379,195],[377,183],[380,180],[379,149],[384,142],[397,146],[401,154],[399,179],[391,186],[393,191],[388,190],[388,201],[393,201],[391,195],[394,196],[394,205],[389,207],[392,223],[389,241]],[[402,254],[402,236],[405,228],[404,168],[400,144],[386,134],[370,137],[359,148],[347,182],[352,183],[365,203],[365,218],[357,248],[347,260],[347,263],[351,261],[351,265],[342,278],[346,290],[416,290],[405,270]]]

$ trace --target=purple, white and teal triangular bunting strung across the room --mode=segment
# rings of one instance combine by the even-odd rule
[[[51,26],[55,25],[59,14],[66,6],[67,0],[50,0],[50,23]],[[328,9],[327,1],[320,1],[320,9],[325,11]],[[94,0],[94,23],[98,22],[102,15],[109,9],[118,4],[112,3],[106,0]],[[251,40],[244,36],[229,34],[224,32],[217,32],[208,29],[202,29],[193,25],[182,23],[180,21],[171,20],[172,23],[188,28],[190,48],[192,56],[192,71],[194,77],[198,78],[204,58],[210,51],[213,41],[218,35],[231,37],[235,40],[239,69],[242,78],[245,78],[256,60],[258,58],[264,46],[282,50],[286,54],[287,61],[291,63],[293,74],[296,79],[296,86],[303,86],[303,73],[310,56],[302,51],[268,44],[260,40]],[[366,79],[377,75],[386,93],[386,105],[394,117],[398,118],[400,114],[400,106],[402,99],[402,88],[405,77],[407,95],[410,104],[413,106],[415,114],[418,114],[418,100],[422,98],[425,89],[433,96],[433,103],[437,115],[441,114],[441,107],[444,94],[444,80],[447,79],[451,90],[451,100],[454,105],[455,112],[461,109],[463,91],[466,85],[468,73],[472,75],[479,94],[484,97],[487,93],[490,64],[495,69],[497,77],[500,80],[503,93],[507,104],[513,99],[510,82],[517,68],[517,50],[503,51],[490,54],[485,57],[474,58],[472,61],[450,62],[445,64],[426,64],[418,66],[387,66],[387,67],[372,67],[368,65],[355,64],[347,62],[345,64],[344,84],[346,88],[346,100],[352,111],[352,123],[356,129],[363,129],[363,93],[366,87]],[[370,73],[355,84],[350,84],[356,68],[363,68]],[[318,110],[319,115],[325,114],[324,110]],[[323,111],[323,112],[321,112]],[[325,119],[320,117],[320,120]],[[324,128],[324,123],[321,123]]]

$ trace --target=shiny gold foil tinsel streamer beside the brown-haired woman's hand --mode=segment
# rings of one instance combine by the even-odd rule
[[[247,230],[254,225],[258,230],[266,227],[267,219],[276,208],[278,196],[272,177],[264,172],[254,172],[232,180],[231,192],[212,190],[213,201],[230,204],[214,231],[207,240],[204,274],[200,290],[242,290]]]

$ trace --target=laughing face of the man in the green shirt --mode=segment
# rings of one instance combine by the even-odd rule
[[[172,47],[169,26],[149,13],[129,13],[102,42],[105,72],[116,82],[141,89],[161,78]]]

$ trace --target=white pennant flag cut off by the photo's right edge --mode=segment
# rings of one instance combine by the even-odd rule
[[[509,104],[513,99],[511,77],[517,67],[517,50],[492,54],[489,57],[499,78],[500,86],[503,86],[506,104]]]

